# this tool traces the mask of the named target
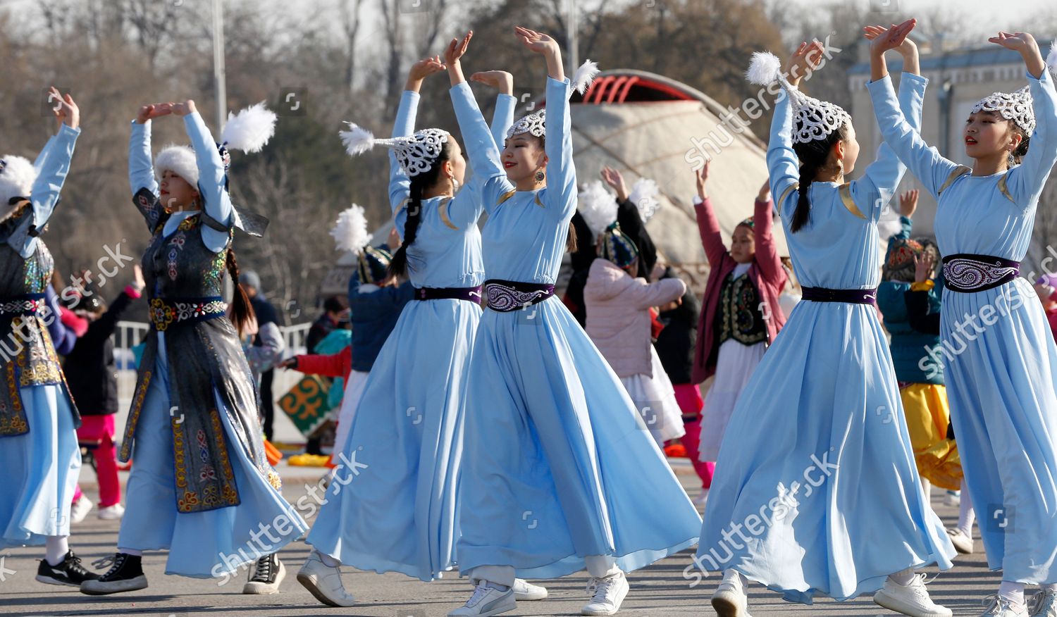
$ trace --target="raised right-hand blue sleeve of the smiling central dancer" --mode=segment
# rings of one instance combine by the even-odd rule
[[[573,125],[569,115],[572,83],[546,78],[546,190],[543,204],[562,221],[576,212],[576,165],[573,163]]]

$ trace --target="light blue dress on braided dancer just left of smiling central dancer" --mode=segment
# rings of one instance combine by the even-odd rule
[[[499,115],[514,113],[513,97],[506,99]],[[404,92],[393,136],[414,132],[418,104],[418,93]],[[465,131],[467,139],[493,139],[483,120]],[[390,157],[389,198],[403,237],[410,182]],[[415,287],[484,281],[475,183],[455,199],[422,201],[407,254]],[[424,581],[455,567],[464,384],[480,319],[481,307],[465,300],[414,300],[404,307],[367,377],[345,451],[335,457],[346,468],[337,469],[309,534],[321,553],[359,569]]]

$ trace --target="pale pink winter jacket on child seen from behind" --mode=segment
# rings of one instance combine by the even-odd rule
[[[583,287],[587,331],[617,377],[653,376],[649,308],[685,293],[686,283],[676,278],[647,283],[609,260],[598,258],[591,263]]]

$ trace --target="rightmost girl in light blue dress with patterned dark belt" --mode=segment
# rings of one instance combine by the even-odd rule
[[[1057,348],[1018,272],[1057,161],[1057,73],[1047,71],[1030,34],[989,40],[1023,57],[1027,86],[972,108],[963,132],[971,169],[941,156],[907,124],[876,50],[869,89],[885,142],[939,203],[935,239],[947,284],[942,347],[923,350],[922,366],[943,367],[987,564],[1002,571],[984,615],[1055,617]],[[1057,50],[1050,63],[1057,63]],[[1025,584],[1042,585],[1031,606]]]

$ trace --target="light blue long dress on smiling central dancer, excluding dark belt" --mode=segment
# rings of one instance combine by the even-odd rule
[[[570,83],[548,80],[548,187],[514,192],[492,138],[466,138],[488,220],[487,278],[553,284],[576,209]],[[451,89],[464,133],[481,123]],[[509,193],[509,194],[508,194]],[[505,195],[505,199],[504,199]],[[501,200],[503,200],[500,203]],[[553,578],[630,572],[697,542],[700,518],[620,380],[556,297],[481,318],[466,395],[459,567]]]

